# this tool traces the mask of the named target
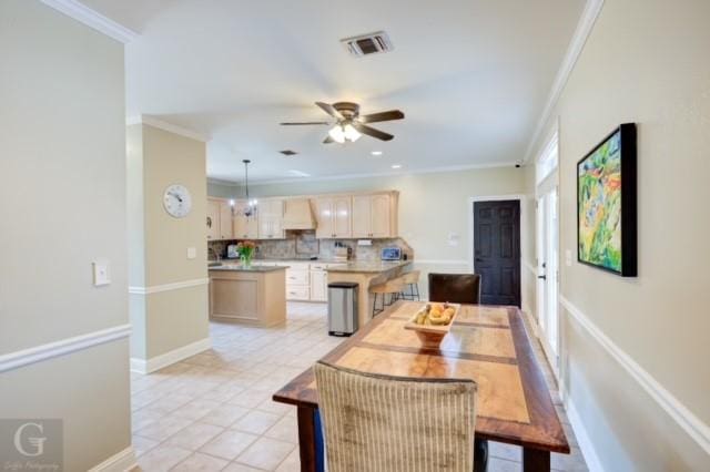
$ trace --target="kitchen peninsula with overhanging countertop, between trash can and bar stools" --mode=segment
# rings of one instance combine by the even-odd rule
[[[412,260],[351,260],[328,267],[326,270],[328,284],[352,281],[358,285],[357,326],[362,329],[373,317],[369,287],[399,277],[410,264]]]

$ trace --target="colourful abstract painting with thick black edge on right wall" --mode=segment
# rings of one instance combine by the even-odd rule
[[[636,125],[622,124],[577,163],[577,259],[637,275]]]

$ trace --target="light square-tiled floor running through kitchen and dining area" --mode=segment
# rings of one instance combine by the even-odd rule
[[[327,335],[326,306],[291,302],[278,328],[212,322],[210,331],[212,349],[131,374],[140,470],[298,471],[295,408],[271,396],[343,340]],[[549,369],[546,378],[572,444],[572,454],[552,454],[552,469],[587,471]],[[490,443],[490,455],[489,472],[521,470],[520,448]]]

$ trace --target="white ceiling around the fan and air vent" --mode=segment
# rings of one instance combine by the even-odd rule
[[[511,164],[542,113],[584,0],[83,0],[136,30],[128,115],[211,136],[207,174],[280,179]],[[385,30],[393,52],[349,57],[339,39]],[[313,102],[355,101],[390,142],[321,142]],[[284,157],[280,150],[298,152]],[[383,151],[373,157],[372,151]]]

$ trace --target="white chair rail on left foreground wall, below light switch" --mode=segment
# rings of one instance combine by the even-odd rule
[[[128,338],[131,335],[131,325],[120,325],[73,338],[48,342],[33,348],[22,349],[0,356],[0,372],[18,369],[34,362],[65,356],[71,352],[88,349],[105,342]]]

